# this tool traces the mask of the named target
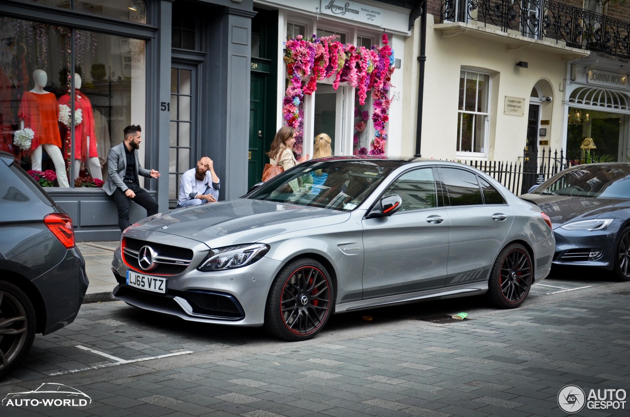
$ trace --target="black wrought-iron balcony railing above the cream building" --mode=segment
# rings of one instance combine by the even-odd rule
[[[442,23],[476,23],[630,59],[630,22],[551,0],[444,0]]]

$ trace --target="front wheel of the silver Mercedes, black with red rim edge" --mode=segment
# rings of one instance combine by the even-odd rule
[[[316,260],[295,260],[273,281],[265,327],[284,340],[307,340],[324,327],[332,308],[333,285],[326,268]]]

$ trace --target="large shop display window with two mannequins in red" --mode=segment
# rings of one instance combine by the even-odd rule
[[[145,42],[11,18],[0,28],[0,149],[54,174],[42,185],[101,185],[123,129],[144,126]]]

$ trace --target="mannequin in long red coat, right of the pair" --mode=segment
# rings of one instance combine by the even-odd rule
[[[74,127],[74,178],[79,176],[81,163],[85,163],[92,178],[103,180],[101,164],[98,160],[94,113],[89,98],[81,93],[81,76],[74,73],[74,109],[81,109],[81,123]],[[70,94],[59,98],[60,105],[70,106]]]

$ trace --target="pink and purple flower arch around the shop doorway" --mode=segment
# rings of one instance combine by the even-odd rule
[[[367,92],[371,91],[374,101],[375,135],[370,144],[370,155],[385,153],[387,132],[385,124],[389,120],[390,99],[387,91],[391,86],[391,74],[394,72],[394,51],[389,47],[387,35],[383,33],[383,46],[374,45],[371,49],[355,47],[350,43],[335,41],[336,36],[318,38],[312,35],[305,40],[301,35],[289,39],[286,43],[287,76],[289,86],[285,93],[282,114],[285,124],[297,130],[299,142],[296,149],[302,149],[301,105],[304,94],[311,95],[317,89],[320,79],[335,76],[333,88],[347,82],[357,88],[358,101],[365,104]],[[310,76],[310,77],[309,77]],[[306,86],[302,81],[308,79]]]

